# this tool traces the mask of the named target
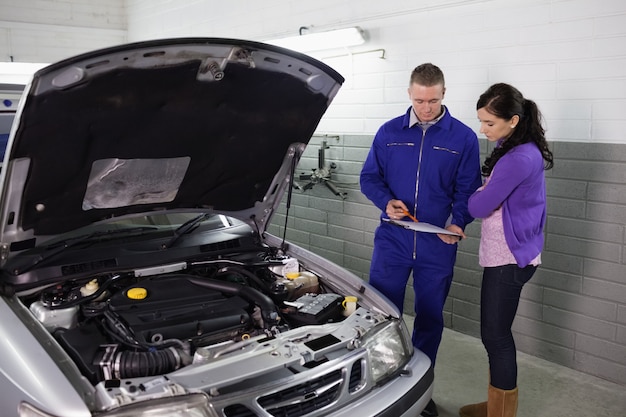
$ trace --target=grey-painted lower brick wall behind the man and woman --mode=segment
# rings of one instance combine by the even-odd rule
[[[368,279],[378,209],[359,191],[371,135],[314,137],[298,166],[317,168],[321,141],[332,179],[345,200],[323,184],[295,191],[287,239]],[[490,151],[481,141],[482,159]],[[626,145],[554,142],[547,172],[548,221],[543,264],[526,285],[514,323],[520,351],[626,385]],[[306,181],[305,181],[306,182]],[[282,235],[286,207],[270,232]],[[479,336],[480,221],[466,230],[446,303],[447,327]],[[410,283],[409,283],[410,286]],[[412,311],[407,289],[406,311]]]

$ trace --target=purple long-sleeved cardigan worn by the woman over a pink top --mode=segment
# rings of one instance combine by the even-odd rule
[[[523,268],[541,253],[546,222],[544,162],[534,143],[502,156],[484,189],[469,198],[469,212],[476,218],[488,217],[500,206],[506,243]]]

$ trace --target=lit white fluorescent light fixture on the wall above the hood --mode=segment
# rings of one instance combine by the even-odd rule
[[[293,49],[299,52],[321,51],[345,48],[365,43],[363,31],[358,27],[329,30],[326,32],[305,33],[288,38],[272,39],[266,43]]]

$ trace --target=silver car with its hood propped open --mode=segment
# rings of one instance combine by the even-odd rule
[[[36,72],[0,174],[2,415],[419,415],[398,310],[266,230],[343,81],[218,38]]]

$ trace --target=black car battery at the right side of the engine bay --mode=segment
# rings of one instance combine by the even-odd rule
[[[338,294],[305,294],[291,303],[297,310],[289,318],[301,325],[338,321],[343,318],[342,301]]]

